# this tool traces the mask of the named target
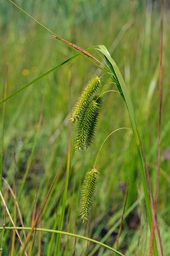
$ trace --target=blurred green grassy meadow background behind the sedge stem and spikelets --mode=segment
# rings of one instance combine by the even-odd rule
[[[161,2],[17,0],[15,3],[53,33],[83,49],[100,44],[107,47],[122,73],[132,100],[154,194],[157,174]],[[166,256],[170,255],[169,1],[164,1],[163,21],[161,172],[157,216]],[[7,81],[7,96],[9,96],[76,54],[7,0],[1,2],[0,35],[1,101],[4,98],[6,63],[9,65]],[[95,50],[90,53],[101,60]],[[71,66],[69,64],[70,62],[9,99],[5,105],[4,121],[3,105],[0,106],[3,177],[14,191],[16,166],[17,201],[24,226],[31,227],[37,184],[36,213],[43,204],[64,159],[37,227],[59,229],[64,189],[69,178],[61,230],[102,241],[113,248],[115,248],[129,179],[118,251],[125,255],[148,255],[150,231],[137,150],[130,130],[124,129],[113,133],[103,145],[96,163],[100,178],[90,220],[86,225],[79,222],[79,201],[86,171],[93,168],[105,138],[115,129],[131,128],[131,123],[120,95],[115,92],[106,93],[94,143],[88,150],[76,153],[73,150],[68,174],[69,86],[73,107],[87,81],[94,75],[103,74],[83,56],[79,56]],[[101,77],[103,86],[109,82],[112,81],[106,75]],[[106,88],[117,90],[115,84],[109,84]],[[43,97],[43,116],[40,123]],[[75,124],[72,124],[72,140],[74,130]],[[15,216],[14,198],[4,180],[1,191],[11,216]],[[3,226],[4,212],[5,207],[1,201],[0,226]],[[21,226],[18,212],[15,219],[15,225]],[[12,226],[8,215],[5,225]],[[2,255],[9,255],[12,233],[12,230],[5,230]],[[19,233],[24,241],[23,231]],[[37,231],[34,244],[28,245],[28,248],[31,248],[29,255],[113,255],[110,250],[82,239],[64,235],[60,238],[60,243],[57,243],[56,234]],[[14,248],[13,255],[19,255],[21,245],[17,237]]]

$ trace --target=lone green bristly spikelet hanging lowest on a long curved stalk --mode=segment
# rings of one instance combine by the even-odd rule
[[[96,183],[99,177],[98,174],[99,172],[95,168],[86,172],[85,174],[83,190],[80,199],[80,220],[82,221],[82,223],[88,221],[92,199],[96,189]]]

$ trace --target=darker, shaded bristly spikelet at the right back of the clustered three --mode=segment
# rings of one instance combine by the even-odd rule
[[[102,109],[102,106],[103,106],[103,101],[104,100],[101,96],[96,95],[97,108],[96,108],[96,111],[93,115],[93,118],[91,118],[91,120],[90,120],[90,123],[89,123],[89,126],[88,126],[88,131],[86,133],[86,139],[85,139],[85,143],[84,143],[86,149],[91,146],[92,141],[94,140],[94,135],[95,135],[95,132],[96,132],[98,118],[99,118],[99,115],[100,115],[100,112],[101,112],[101,109]]]

